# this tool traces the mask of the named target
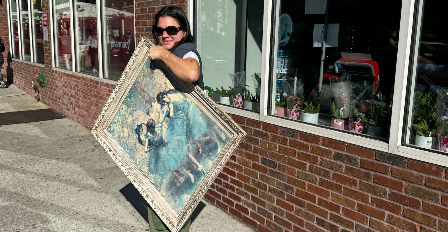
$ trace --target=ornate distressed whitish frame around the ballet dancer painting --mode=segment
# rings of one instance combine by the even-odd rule
[[[130,59],[125,71],[118,80],[115,89],[112,91],[106,105],[104,105],[95,125],[90,133],[98,140],[103,148],[108,152],[111,158],[116,162],[120,169],[129,178],[135,188],[142,194],[143,198],[159,215],[160,219],[172,232],[178,232],[185,221],[190,217],[194,208],[203,198],[204,194],[210,188],[211,184],[218,176],[233,151],[246,136],[246,132],[241,129],[223,110],[220,109],[214,101],[211,100],[198,86],[176,79],[181,88],[187,89],[190,95],[199,102],[208,113],[214,117],[231,135],[228,143],[224,146],[217,159],[213,162],[211,168],[199,181],[190,199],[181,209],[179,214],[168,204],[167,200],[159,193],[153,183],[138,168],[129,155],[121,148],[112,135],[108,132],[108,127],[115,118],[130,88],[137,79],[143,68],[143,64],[149,58],[148,50],[153,43],[143,37],[135,48],[134,55]],[[163,64],[164,67],[165,65]],[[171,72],[168,69],[164,70]]]

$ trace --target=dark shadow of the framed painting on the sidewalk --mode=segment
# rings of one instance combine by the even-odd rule
[[[121,194],[125,196],[125,198],[131,203],[131,205],[137,210],[137,212],[142,216],[145,221],[148,221],[148,210],[146,208],[147,202],[145,198],[138,192],[138,190],[132,185],[132,183],[127,184],[120,190]],[[193,223],[194,219],[199,215],[202,209],[205,207],[205,204],[199,202],[198,206],[194,209],[191,214],[191,222]]]

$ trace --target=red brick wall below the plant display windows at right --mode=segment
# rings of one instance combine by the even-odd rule
[[[232,116],[248,133],[205,198],[259,231],[448,232],[448,173]]]

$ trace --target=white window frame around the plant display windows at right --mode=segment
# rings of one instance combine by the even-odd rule
[[[261,96],[260,96],[260,111],[259,114],[237,109],[231,106],[220,105],[220,107],[229,114],[238,115],[245,118],[255,119],[260,122],[266,122],[280,127],[285,127],[304,133],[309,133],[317,136],[323,136],[330,139],[335,139],[344,143],[354,144],[360,147],[373,149],[381,152],[388,152],[398,156],[403,156],[423,162],[448,166],[448,156],[439,154],[436,152],[430,152],[426,150],[420,150],[411,146],[403,145],[403,128],[405,127],[406,118],[405,110],[407,99],[407,86],[408,78],[412,72],[409,72],[409,64],[413,61],[411,54],[414,45],[413,43],[413,30],[415,17],[418,17],[419,21],[421,13],[415,15],[415,7],[417,0],[402,0],[401,4],[401,21],[400,21],[400,42],[397,52],[397,66],[395,74],[394,85],[394,97],[392,106],[392,117],[390,126],[389,143],[381,140],[372,139],[363,135],[356,135],[347,133],[346,131],[339,131],[330,129],[327,127],[315,126],[312,124],[304,123],[297,120],[289,120],[285,118],[279,118],[268,114],[270,112],[267,109],[269,101],[269,77],[271,75],[271,45],[272,45],[272,33],[275,33],[271,28],[276,19],[273,19],[272,15],[278,13],[278,1],[279,0],[264,0],[264,21],[263,21],[263,47],[262,47],[262,76],[261,76]],[[275,4],[275,5],[274,5]],[[422,1],[420,1],[422,4]],[[194,21],[196,15],[194,12],[194,0],[188,0],[188,17],[190,21]],[[275,9],[276,8],[276,9]],[[422,9],[420,7],[420,9]],[[278,14],[275,15],[278,17]],[[196,26],[196,25],[195,25]],[[196,28],[195,28],[196,30]],[[274,34],[275,36],[276,34]],[[274,45],[275,46],[275,45]],[[257,117],[258,116],[258,117]]]

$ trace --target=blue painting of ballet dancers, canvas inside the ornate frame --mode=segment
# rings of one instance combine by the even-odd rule
[[[179,212],[230,138],[148,61],[108,131]],[[163,76],[164,77],[164,76]]]

